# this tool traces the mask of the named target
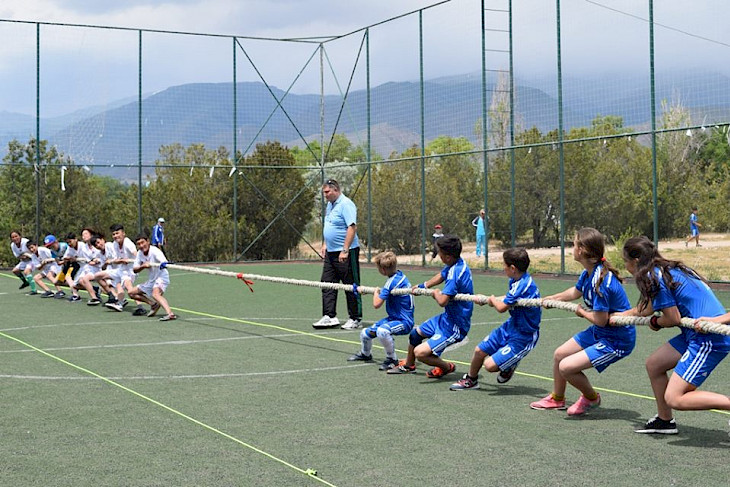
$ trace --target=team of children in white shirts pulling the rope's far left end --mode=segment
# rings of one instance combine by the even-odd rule
[[[64,299],[66,293],[61,286],[65,284],[71,292],[69,301],[81,301],[79,291],[83,289],[89,294],[86,302],[89,306],[102,304],[103,290],[108,296],[104,306],[117,312],[122,312],[128,304],[124,298],[126,293],[137,303],[132,312],[134,316],[152,317],[162,308],[166,314],[160,321],[177,319],[164,297],[170,276],[162,251],[150,245],[145,234],[135,238],[135,246],[121,224],[112,225],[110,231],[113,242],[107,242],[104,235],[91,228],[84,228],[81,240],[74,233],[66,235],[65,242],[47,235],[43,245],[23,238],[17,231],[11,232],[11,249],[19,259],[13,273],[22,281],[20,289],[30,286],[30,295]],[[137,274],[145,269],[149,269],[147,281],[135,286]],[[53,285],[55,291],[44,280]],[[36,286],[43,293],[39,293]],[[142,303],[150,306],[149,311]]]

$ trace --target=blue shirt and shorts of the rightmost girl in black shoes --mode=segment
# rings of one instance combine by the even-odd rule
[[[661,269],[656,268],[654,272],[659,280],[659,292],[651,301],[654,311],[676,306],[683,318],[712,318],[725,313],[715,294],[701,280],[671,269],[669,274],[678,285],[669,289]],[[674,372],[694,386],[700,386],[730,353],[730,336],[697,333],[688,328],[680,328],[680,334],[669,340],[669,344],[682,354]]]

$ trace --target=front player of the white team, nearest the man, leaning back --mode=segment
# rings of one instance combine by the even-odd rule
[[[147,313],[149,317],[154,316],[162,306],[167,315],[160,318],[160,321],[177,319],[175,313],[170,309],[167,299],[163,296],[167,286],[170,285],[170,274],[164,266],[159,265],[167,264],[165,254],[154,245],[150,245],[149,237],[145,234],[137,235],[135,241],[139,251],[134,261],[133,270],[136,274],[139,274],[144,269],[149,269],[150,273],[147,282],[135,286],[129,291],[129,296],[150,305],[150,312]]]

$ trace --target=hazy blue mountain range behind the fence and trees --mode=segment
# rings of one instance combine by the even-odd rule
[[[658,76],[657,80],[657,104],[662,99],[680,99],[690,108],[698,124],[728,120],[728,77],[718,73],[692,73]],[[487,89],[490,96],[494,86],[494,80],[489,80]],[[440,135],[464,136],[480,145],[476,140],[475,126],[482,115],[481,90],[478,73],[426,81],[426,140]],[[522,128],[535,126],[543,132],[557,128],[554,79],[517,79],[515,91],[515,113]],[[285,93],[278,88],[272,88],[272,92],[284,100],[282,106],[286,114],[277,109],[276,101],[262,83],[238,84],[239,150],[246,150],[250,145],[249,150],[252,150],[255,143],[267,140],[300,147],[304,145],[302,138],[319,140],[319,95],[284,96]],[[375,152],[387,156],[420,142],[420,96],[417,82],[390,82],[372,89],[371,132]],[[589,125],[599,114],[622,116],[627,126],[647,126],[649,123],[649,86],[648,80],[642,77],[566,78],[563,100],[568,130]],[[326,139],[329,140],[337,123],[339,133],[345,134],[354,144],[364,143],[366,102],[364,90],[351,92],[344,108],[339,96],[326,96]],[[157,158],[161,145],[175,142],[231,148],[232,107],[231,83],[173,86],[145,96],[142,113],[144,163],[151,164]],[[138,159],[138,116],[136,98],[119,100],[109,106],[89,107],[62,117],[42,119],[42,136],[71,155],[78,164],[135,165]],[[0,112],[0,143],[3,147],[7,147],[8,140],[12,138],[27,140],[35,131],[34,116]],[[119,171],[115,167],[101,172],[124,177],[119,175]]]

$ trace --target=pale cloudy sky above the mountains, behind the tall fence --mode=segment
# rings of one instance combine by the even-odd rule
[[[425,5],[415,0],[3,0],[0,19],[78,23],[253,37],[338,35]],[[662,0],[655,3],[658,70],[728,70],[730,34],[717,15],[724,2]],[[487,0],[489,7],[506,0]],[[647,1],[562,0],[563,63],[566,76],[643,75],[648,66]],[[555,2],[513,1],[515,70],[518,77],[554,77]],[[452,0],[424,13],[424,74],[427,78],[473,73],[481,68],[479,1]],[[506,16],[490,14],[488,27],[506,27]],[[45,116],[89,104],[135,96],[137,34],[123,31],[43,27],[42,103]],[[327,44],[325,90],[344,89],[362,35]],[[35,113],[35,27],[0,23],[0,112]],[[499,49],[506,36],[488,35]],[[319,58],[303,68],[316,45],[242,39],[267,81],[293,91],[319,91]],[[145,34],[145,93],[192,82],[230,82],[231,40]],[[490,52],[489,67],[506,67],[504,54]],[[371,30],[371,79],[417,80],[416,16]],[[238,53],[239,81],[258,76]],[[362,64],[361,64],[362,66]],[[336,72],[337,79],[329,72]],[[617,75],[620,76],[620,75]],[[337,87],[337,84],[340,87]],[[364,67],[353,86],[364,83]]]

